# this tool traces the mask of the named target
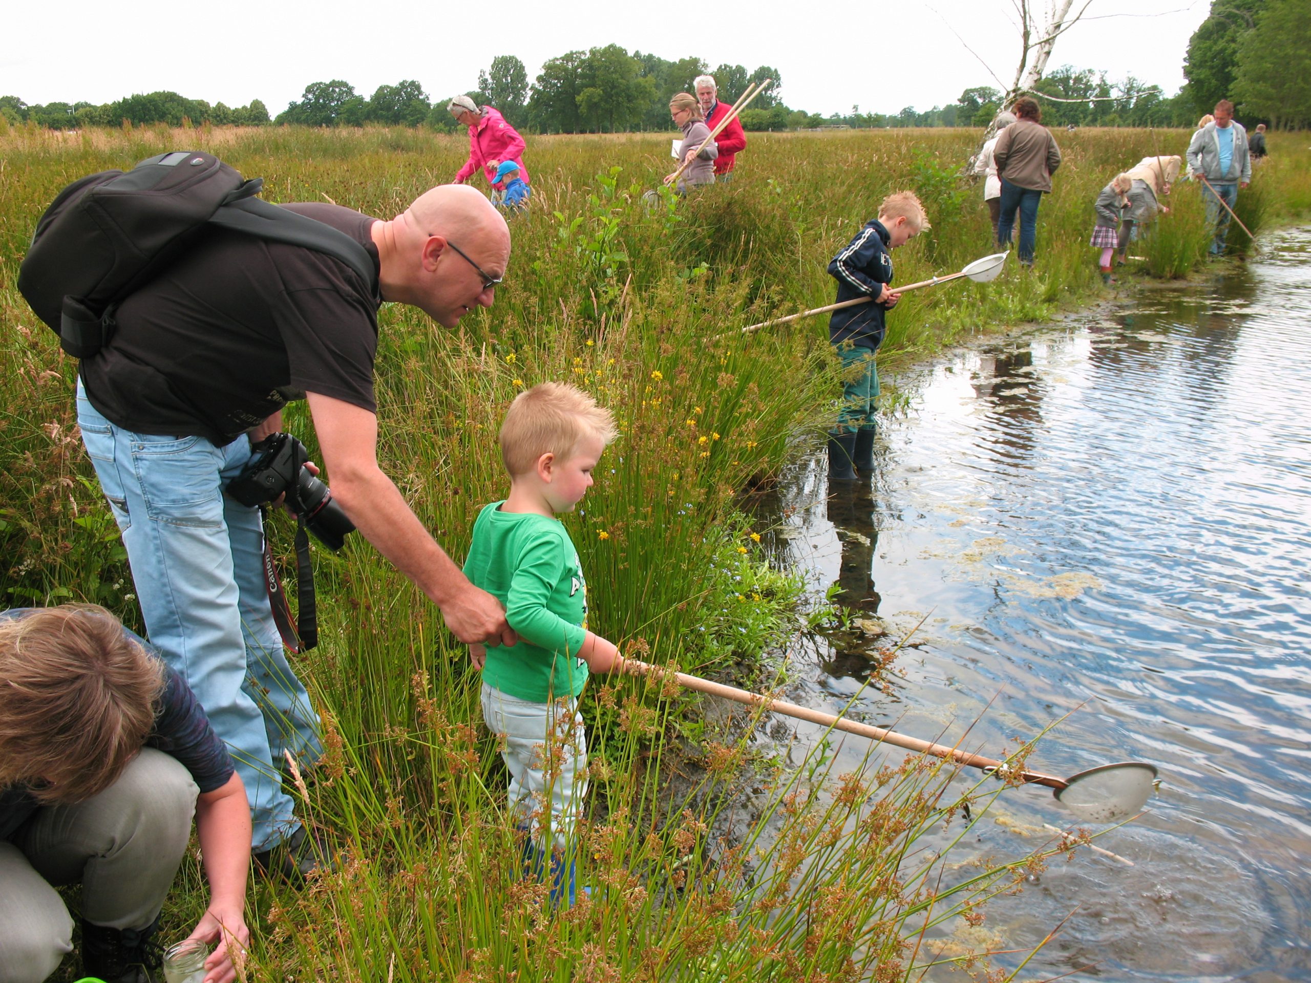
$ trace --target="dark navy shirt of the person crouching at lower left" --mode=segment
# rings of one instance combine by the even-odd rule
[[[22,617],[26,609],[0,611],[0,619]],[[123,629],[132,641],[146,646],[157,657],[149,642]],[[164,667],[164,691],[155,701],[155,726],[146,738],[146,747],[153,747],[177,759],[191,775],[201,792],[223,788],[235,771],[228,748],[210,726],[191,688],[168,666]],[[0,840],[14,831],[41,809],[26,786],[0,788]]]

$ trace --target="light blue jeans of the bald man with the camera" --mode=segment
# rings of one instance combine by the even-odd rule
[[[241,436],[134,434],[77,384],[77,425],[127,548],[146,629],[228,744],[250,800],[252,847],[296,830],[283,793],[284,751],[323,755],[319,717],[287,663],[264,586],[264,523],[223,494],[250,460]]]

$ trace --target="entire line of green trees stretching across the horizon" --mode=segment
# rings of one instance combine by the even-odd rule
[[[1311,122],[1311,18],[1306,0],[1213,0],[1211,13],[1189,42],[1188,84],[1173,97],[1159,85],[1133,76],[1113,81],[1105,72],[1063,66],[1037,84],[1044,122],[1051,126],[1190,126],[1217,100],[1234,98],[1244,122],[1276,126]],[[569,51],[541,66],[536,80],[514,55],[501,55],[479,72],[465,90],[480,105],[493,105],[524,132],[625,132],[669,130],[669,97],[691,92],[699,75],[713,75],[720,98],[735,102],[747,85],[772,79],[773,85],[742,113],[747,130],[796,130],[825,126],[931,127],[986,126],[999,111],[1000,92],[975,87],[945,106],[897,113],[861,111],[821,115],[783,102],[777,68],[739,64],[708,66],[700,58],[669,60],[619,45]],[[355,92],[341,79],[316,81],[273,121],[264,102],[229,109],[176,92],[128,96],[105,105],[51,102],[29,106],[14,96],[0,97],[0,119],[50,128],[185,123],[264,126],[427,126],[452,132],[458,123],[446,110],[456,93],[430,96],[416,80],[380,85],[372,94]],[[3,125],[3,123],[0,123]]]

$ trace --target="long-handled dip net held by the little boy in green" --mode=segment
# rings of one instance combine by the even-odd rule
[[[649,662],[624,658],[619,668],[631,675],[659,676],[663,670],[652,666]],[[1088,771],[1071,775],[1068,779],[1059,779],[1055,775],[1029,771],[1027,768],[1012,768],[1006,761],[999,761],[983,755],[962,751],[958,747],[936,744],[932,741],[898,734],[895,730],[884,730],[868,723],[857,723],[846,717],[836,717],[831,713],[814,710],[809,706],[800,706],[794,703],[775,700],[763,693],[753,693],[750,689],[738,689],[735,685],[713,683],[709,679],[692,676],[687,672],[674,672],[674,679],[684,689],[699,693],[709,693],[747,706],[763,706],[772,713],[781,713],[796,720],[809,721],[834,730],[843,730],[848,734],[878,741],[886,744],[905,747],[909,751],[944,758],[970,768],[982,768],[995,772],[999,777],[1013,779],[1034,785],[1046,785],[1055,789],[1053,793],[1058,802],[1070,809],[1075,815],[1089,822],[1118,822],[1138,813],[1151,796],[1156,780],[1156,765],[1146,761],[1121,761],[1118,764],[1103,764]]]

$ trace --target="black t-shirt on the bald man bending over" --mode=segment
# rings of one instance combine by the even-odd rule
[[[288,204],[363,244],[375,219]],[[370,412],[380,299],[341,261],[210,229],[118,308],[81,363],[92,405],[125,430],[235,440],[305,392]]]

